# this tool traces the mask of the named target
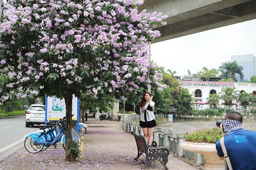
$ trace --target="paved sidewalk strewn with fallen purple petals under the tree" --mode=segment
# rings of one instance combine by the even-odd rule
[[[0,162],[0,170],[140,170],[144,157],[134,161],[137,146],[134,136],[123,131],[123,122],[96,120],[88,115],[88,128],[81,137],[81,157],[74,162],[65,162],[61,144],[40,153],[31,154],[22,146]],[[0,160],[1,161],[1,160]],[[170,155],[169,170],[200,170],[189,163]],[[155,161],[146,169],[164,169]]]

